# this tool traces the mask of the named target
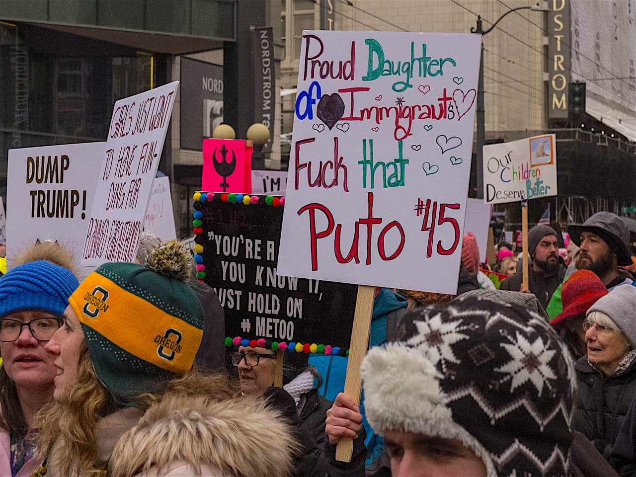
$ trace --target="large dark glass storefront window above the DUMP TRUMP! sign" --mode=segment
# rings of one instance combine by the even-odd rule
[[[104,141],[114,102],[150,88],[151,55],[64,36],[72,50],[51,47],[59,32],[0,24],[0,196],[8,149]]]

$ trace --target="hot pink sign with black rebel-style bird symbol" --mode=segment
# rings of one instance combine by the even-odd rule
[[[252,151],[252,141],[204,139],[201,189],[251,193]]]

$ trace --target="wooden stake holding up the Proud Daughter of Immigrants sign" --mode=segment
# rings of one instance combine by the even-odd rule
[[[349,346],[349,361],[347,361],[347,379],[345,380],[345,394],[356,401],[356,404],[360,403],[360,393],[362,391],[360,365],[369,344],[373,298],[375,298],[375,287],[358,286],[356,313],[354,314],[354,326],[351,331],[351,343]],[[353,451],[353,439],[340,439],[338,445],[336,445],[336,460],[351,462]]]

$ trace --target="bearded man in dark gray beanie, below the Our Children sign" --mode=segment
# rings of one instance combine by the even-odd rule
[[[558,259],[558,239],[553,228],[547,225],[537,225],[528,232],[528,254],[532,258],[529,264],[529,291],[534,293],[543,305],[548,306],[552,294],[563,282],[566,267]],[[517,267],[517,273],[501,282],[500,289],[522,291],[522,267]]]

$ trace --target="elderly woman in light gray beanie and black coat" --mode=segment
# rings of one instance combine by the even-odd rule
[[[587,354],[574,369],[579,392],[575,427],[605,459],[636,394],[636,288],[616,287],[583,322]]]

